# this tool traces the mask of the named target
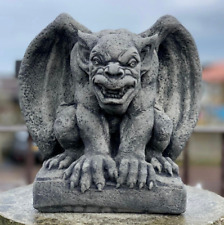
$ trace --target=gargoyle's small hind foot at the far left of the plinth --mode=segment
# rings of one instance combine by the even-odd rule
[[[75,159],[76,159],[75,153],[65,151],[45,161],[44,167],[46,167],[49,170],[52,168],[64,169],[69,167],[71,163],[74,162]]]

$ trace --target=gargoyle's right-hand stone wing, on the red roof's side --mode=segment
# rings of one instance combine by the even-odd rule
[[[196,125],[201,92],[201,65],[190,33],[172,16],[161,17],[140,34],[158,34],[156,106],[173,121],[170,144],[163,155],[175,160]]]

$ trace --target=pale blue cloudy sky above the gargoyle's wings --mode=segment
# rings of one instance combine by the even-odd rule
[[[193,35],[203,64],[224,60],[223,0],[0,0],[0,77],[14,73],[15,60],[62,12],[92,31],[134,33],[170,14]]]

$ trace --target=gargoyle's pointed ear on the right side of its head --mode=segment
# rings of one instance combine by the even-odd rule
[[[140,52],[141,57],[141,73],[144,74],[150,69],[151,59],[153,57],[154,50],[158,47],[158,34],[150,37],[138,39],[136,45]]]

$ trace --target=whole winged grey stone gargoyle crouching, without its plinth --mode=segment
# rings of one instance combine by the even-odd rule
[[[92,33],[61,14],[30,44],[20,103],[44,166],[70,187],[154,185],[198,117],[201,68],[194,41],[173,17],[134,34]]]

